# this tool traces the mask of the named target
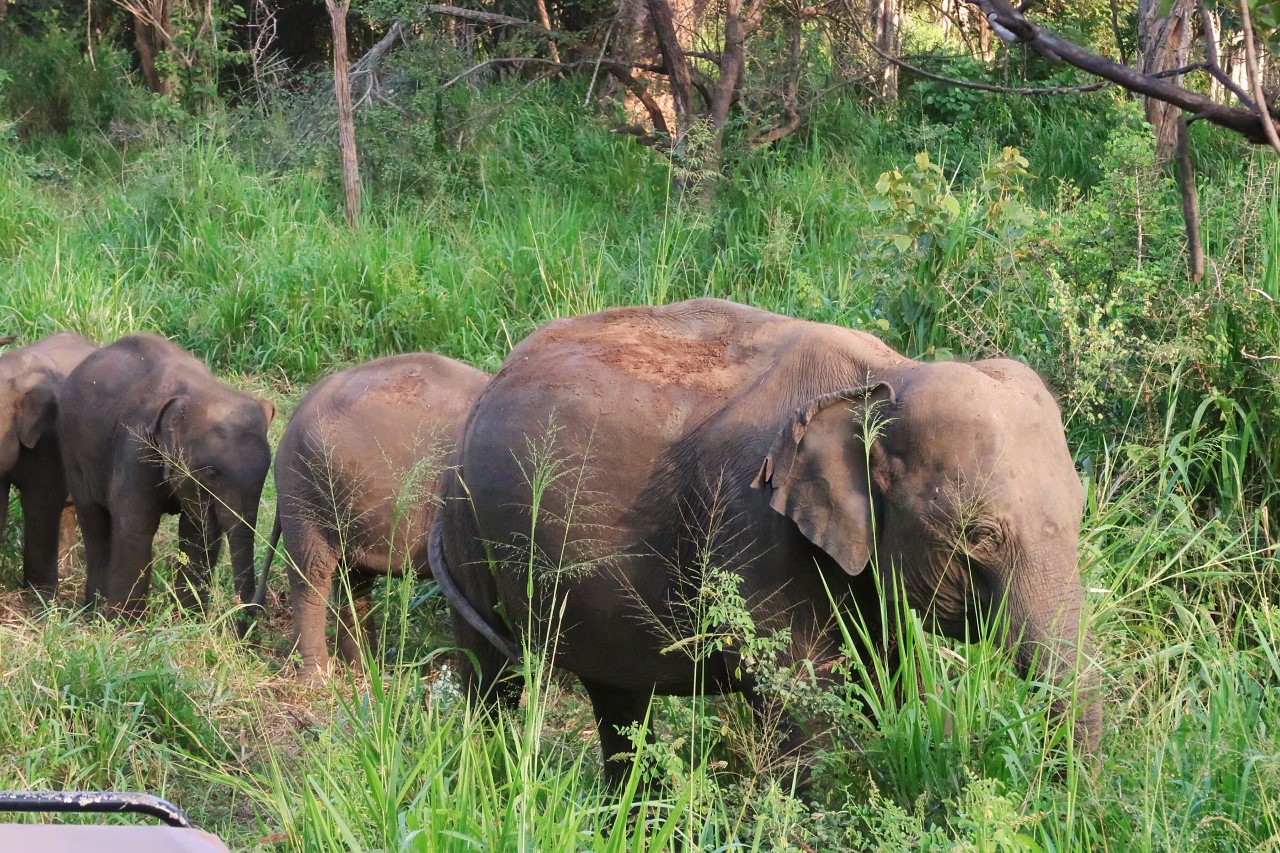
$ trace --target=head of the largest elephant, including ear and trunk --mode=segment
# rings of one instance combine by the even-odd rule
[[[1019,669],[1066,684],[1089,651],[1084,492],[1052,394],[1009,360],[915,362],[876,379],[791,418],[758,480],[772,485],[769,506],[849,575],[886,573],[883,588],[904,589],[947,637],[977,637],[1004,612]],[[1093,749],[1096,672],[1078,686],[1075,738]]]

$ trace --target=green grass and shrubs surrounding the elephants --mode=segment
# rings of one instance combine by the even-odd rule
[[[375,356],[492,370],[552,318],[692,296],[924,359],[1023,359],[1060,396],[1088,494],[1106,727],[1094,760],[1074,756],[995,643],[947,643],[901,612],[901,683],[809,688],[762,646],[765,674],[828,727],[817,784],[760,771],[741,701],[668,699],[612,794],[585,698],[536,658],[518,713],[467,708],[430,581],[379,587],[380,675],[307,688],[283,578],[241,643],[225,576],[207,616],[175,612],[170,530],[151,615],[104,624],[74,610],[78,579],[55,607],[18,592],[10,525],[0,788],[148,790],[233,849],[1280,845],[1268,149],[1190,127],[1208,259],[1192,283],[1176,177],[1123,93],[1028,100],[904,72],[896,102],[836,90],[773,145],[726,137],[707,197],[582,106],[588,76],[440,90],[465,63],[421,40],[384,74],[410,95],[357,113],[366,196],[349,228],[323,81],[264,100],[214,74],[196,104],[155,97],[110,40],[90,56],[56,15],[28,29],[0,50],[0,333],[156,330],[282,415]],[[273,506],[269,485],[264,519]],[[763,643],[709,576],[708,635]]]

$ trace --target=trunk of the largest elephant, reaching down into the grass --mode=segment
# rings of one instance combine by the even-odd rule
[[[1064,688],[1051,710],[1075,717],[1075,745],[1093,753],[1102,738],[1101,675],[1082,624],[1084,589],[1074,565],[1070,569],[1069,574],[1039,567],[1018,573],[1009,592],[1009,638],[1023,675],[1034,671],[1043,683]],[[1057,587],[1046,581],[1055,576],[1069,580]]]

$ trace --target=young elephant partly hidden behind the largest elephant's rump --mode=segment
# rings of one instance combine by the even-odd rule
[[[357,625],[375,644],[365,601],[374,576],[428,565],[439,473],[488,380],[458,361],[411,352],[335,373],[298,403],[275,453],[276,515],[259,598],[283,537],[302,680],[329,667],[335,570],[351,578],[346,596],[335,592],[338,651],[358,670]]]

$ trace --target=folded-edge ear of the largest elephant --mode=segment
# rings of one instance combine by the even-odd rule
[[[865,442],[874,424],[865,414],[884,401],[895,396],[883,382],[809,401],[783,425],[751,483],[768,487],[769,506],[849,575],[867,567],[874,547],[868,466],[874,444]]]

